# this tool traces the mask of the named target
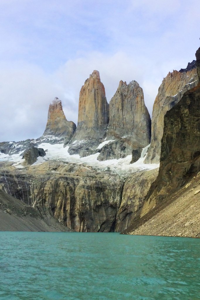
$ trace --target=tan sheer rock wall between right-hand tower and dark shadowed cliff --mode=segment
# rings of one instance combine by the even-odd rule
[[[173,71],[163,79],[158,95],[153,104],[151,145],[145,158],[146,164],[158,164],[160,161],[161,139],[163,135],[164,116],[180,101],[183,94],[196,86],[198,76],[196,68],[187,72]]]

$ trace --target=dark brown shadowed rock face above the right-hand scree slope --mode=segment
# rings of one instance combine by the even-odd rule
[[[196,52],[200,75],[200,48]],[[200,171],[200,83],[187,91],[164,118],[159,175],[142,210],[146,214]]]

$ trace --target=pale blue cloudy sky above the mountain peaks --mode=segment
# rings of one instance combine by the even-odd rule
[[[0,142],[40,137],[55,97],[77,124],[93,70],[108,103],[136,80],[151,115],[163,78],[195,59],[199,11],[199,0],[0,0]]]

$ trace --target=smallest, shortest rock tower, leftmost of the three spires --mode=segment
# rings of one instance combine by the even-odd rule
[[[69,141],[76,130],[76,124],[67,121],[59,98],[54,98],[49,106],[47,125],[43,136],[64,137]]]

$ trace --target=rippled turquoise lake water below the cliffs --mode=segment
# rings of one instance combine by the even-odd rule
[[[0,299],[197,300],[200,239],[0,232]]]

